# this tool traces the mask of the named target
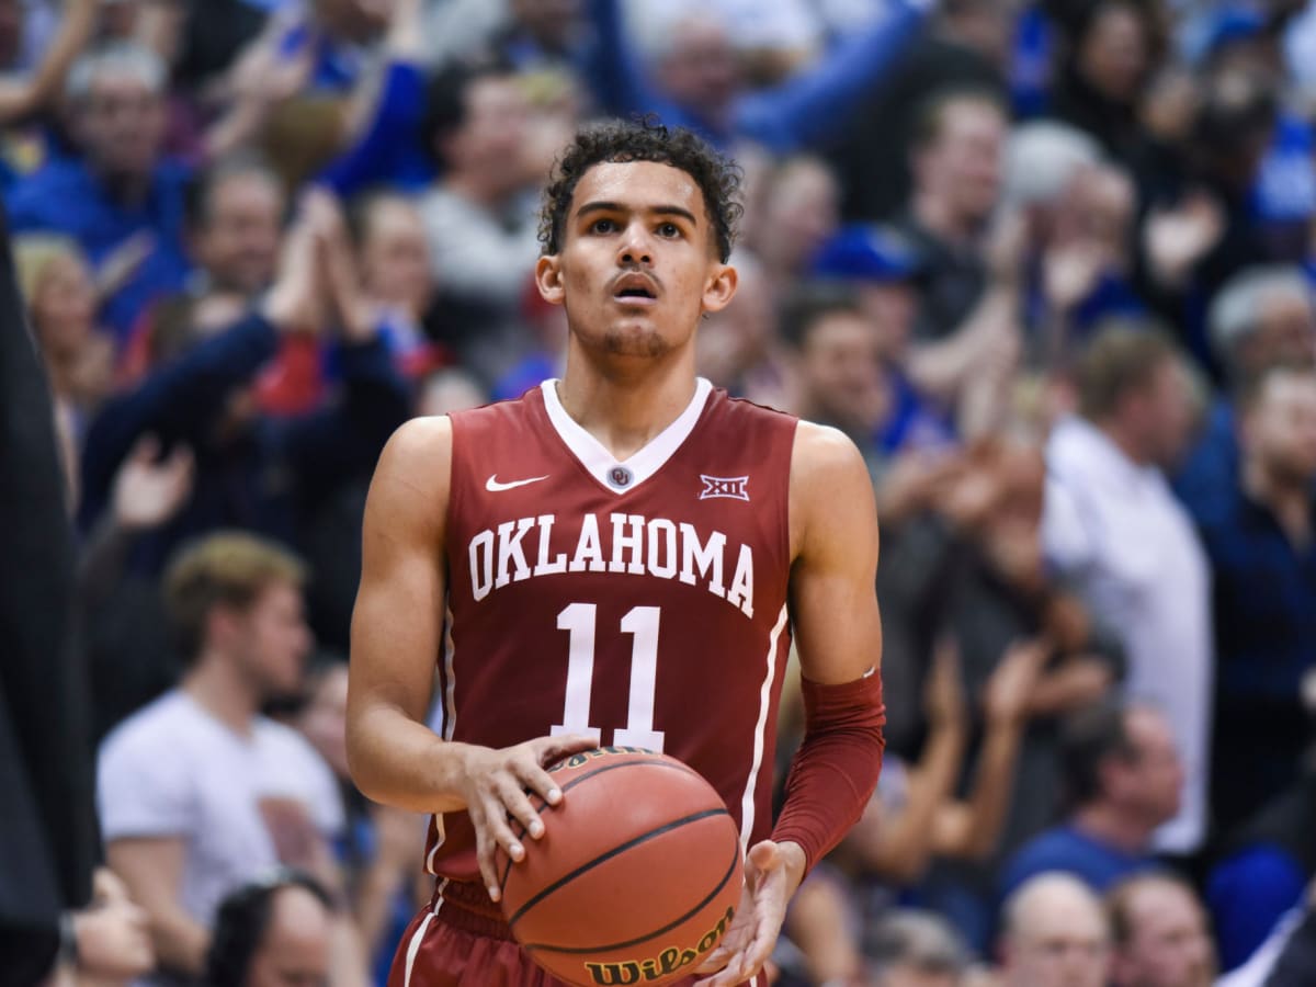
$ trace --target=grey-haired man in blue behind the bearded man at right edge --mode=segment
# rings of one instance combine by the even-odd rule
[[[1228,280],[1211,303],[1208,328],[1234,391],[1275,363],[1316,365],[1316,305],[1298,267],[1252,267]],[[1174,483],[1199,524],[1229,511],[1238,459],[1237,415],[1225,393],[1208,411],[1202,437]]]

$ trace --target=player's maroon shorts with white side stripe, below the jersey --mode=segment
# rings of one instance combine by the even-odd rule
[[[496,908],[476,884],[440,880],[433,900],[403,934],[388,987],[567,987],[534,965]],[[675,987],[692,983],[694,976]],[[747,983],[759,987],[765,980]]]

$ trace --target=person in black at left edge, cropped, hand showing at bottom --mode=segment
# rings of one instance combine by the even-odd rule
[[[91,976],[150,969],[137,909],[92,867],[89,696],[76,661],[74,540],[46,376],[22,317],[0,213],[0,984],[28,987],[57,961]],[[83,911],[79,911],[83,909]]]

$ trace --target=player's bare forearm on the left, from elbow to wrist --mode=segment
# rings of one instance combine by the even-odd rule
[[[347,765],[361,792],[409,812],[466,808],[470,744],[438,737],[396,707],[379,704],[347,720]]]

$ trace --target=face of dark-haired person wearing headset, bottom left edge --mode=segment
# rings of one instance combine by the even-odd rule
[[[301,887],[270,901],[270,924],[247,967],[246,987],[324,987],[329,983],[332,917]]]

